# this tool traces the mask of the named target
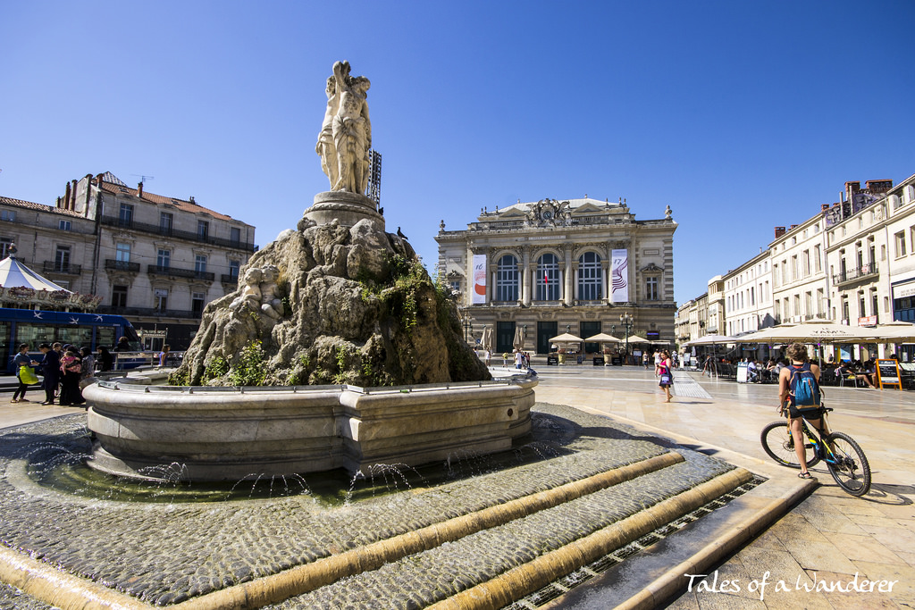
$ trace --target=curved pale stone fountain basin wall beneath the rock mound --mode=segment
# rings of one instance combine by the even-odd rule
[[[180,464],[188,480],[238,480],[489,454],[529,433],[533,379],[401,388],[203,388],[100,381],[83,391],[97,441],[90,465],[144,476]]]

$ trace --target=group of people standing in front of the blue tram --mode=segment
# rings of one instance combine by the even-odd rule
[[[32,359],[28,351],[29,345],[20,343],[13,359],[19,385],[10,402],[29,402],[26,391],[28,386],[38,383],[34,373],[37,368],[41,371],[41,386],[45,391],[45,400],[41,404],[54,404],[55,400],[62,406],[85,404],[82,388],[87,380],[94,377],[96,362],[100,370],[111,370],[114,364],[112,353],[102,346],[97,350],[98,358],[92,355],[91,348],[76,348],[70,344],[40,344],[40,361]]]

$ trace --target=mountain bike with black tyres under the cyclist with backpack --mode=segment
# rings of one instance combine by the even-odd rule
[[[833,411],[823,407],[823,430],[829,430],[826,423],[826,412]],[[787,417],[787,409],[785,410]],[[845,489],[852,496],[860,497],[870,491],[870,464],[867,455],[851,436],[841,432],[834,432],[823,436],[823,431],[816,430],[813,425],[808,425],[805,418],[801,418],[801,427],[807,443],[804,449],[813,449],[813,455],[807,462],[810,468],[821,460],[829,468],[839,487]],[[816,430],[816,433],[812,432]],[[794,439],[791,429],[786,422],[772,422],[762,429],[759,440],[766,453],[781,466],[801,468],[801,464],[794,453]],[[806,454],[806,451],[805,451]]]

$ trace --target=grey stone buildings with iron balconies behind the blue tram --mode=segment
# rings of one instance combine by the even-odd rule
[[[101,297],[97,311],[142,332],[167,328],[187,348],[204,305],[231,293],[257,250],[254,227],[180,199],[128,187],[110,173],[67,183],[55,206],[0,198],[0,254],[52,282]]]

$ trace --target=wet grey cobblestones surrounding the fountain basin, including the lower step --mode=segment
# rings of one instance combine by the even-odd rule
[[[322,507],[307,496],[167,505],[65,496],[23,476],[24,456],[51,450],[50,443],[59,452],[84,453],[85,415],[29,424],[0,437],[0,471],[5,473],[0,478],[0,543],[167,605],[668,451],[660,439],[598,416],[543,404],[535,411],[530,446],[552,457],[339,508]],[[310,594],[337,601],[325,604],[320,601],[324,597],[303,596],[283,607],[357,607],[397,595],[416,604],[417,594],[437,599],[463,588],[467,579],[485,580],[731,467],[678,451],[685,464]],[[480,461],[474,461],[474,468]],[[423,584],[414,584],[418,582]],[[335,597],[334,587],[344,597]],[[0,596],[0,604],[6,598]]]

